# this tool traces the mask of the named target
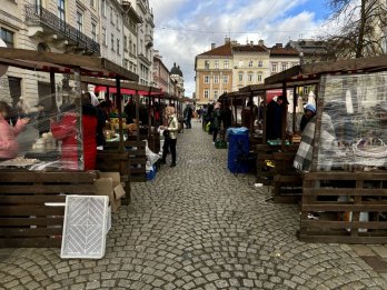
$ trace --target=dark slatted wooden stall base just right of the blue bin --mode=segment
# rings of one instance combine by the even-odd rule
[[[257,146],[257,183],[272,186],[274,201],[278,203],[297,202],[301,198],[302,179],[292,167],[298,146],[287,146],[286,151],[280,146]],[[267,167],[270,160],[274,168]],[[290,189],[287,193],[285,189]]]

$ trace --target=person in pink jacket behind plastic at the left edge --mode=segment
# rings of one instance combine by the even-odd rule
[[[7,119],[10,117],[10,106],[4,101],[0,101],[0,160],[18,157],[19,144],[17,141],[17,136],[29,122],[28,118],[18,119],[16,126],[12,127],[7,121]]]

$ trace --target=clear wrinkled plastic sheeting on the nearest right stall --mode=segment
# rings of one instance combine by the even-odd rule
[[[387,72],[324,77],[319,96],[318,170],[385,168]]]

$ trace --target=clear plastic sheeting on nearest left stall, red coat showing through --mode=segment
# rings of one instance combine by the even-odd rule
[[[21,98],[0,121],[0,168],[83,170],[80,96]]]

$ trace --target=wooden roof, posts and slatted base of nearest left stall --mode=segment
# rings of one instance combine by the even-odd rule
[[[98,178],[98,171],[82,170],[81,77],[116,79],[119,86],[121,80],[137,81],[138,76],[103,58],[75,54],[64,57],[62,53],[10,48],[0,48],[0,64],[49,74],[51,94],[48,98],[51,98],[52,103],[49,118],[56,118],[58,114],[63,117],[64,106],[61,111],[57,106],[56,74],[73,76],[75,90],[70,93],[73,98],[71,106],[75,106],[75,109],[68,112],[75,118],[73,130],[77,130],[75,133],[77,144],[72,149],[76,168],[67,167],[63,159],[60,162],[60,153],[63,152],[57,141],[51,142],[50,148],[51,150],[54,148],[59,156],[51,156],[47,151],[49,143],[44,143],[44,149],[41,149],[43,151],[39,151],[39,154],[33,151],[32,146],[33,158],[26,158],[26,157],[6,161],[7,166],[1,162],[0,174],[0,248],[60,247],[64,214],[64,207],[61,203],[64,202],[67,194],[96,194],[95,181]],[[120,98],[120,93],[118,97]],[[44,136],[39,139],[43,140]],[[29,147],[29,143],[26,146]],[[38,146],[38,142],[34,146]],[[123,143],[119,146],[119,153],[122,152]],[[130,183],[129,180],[125,181],[129,196]]]

